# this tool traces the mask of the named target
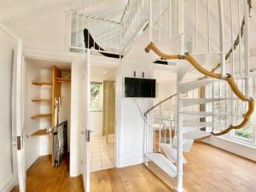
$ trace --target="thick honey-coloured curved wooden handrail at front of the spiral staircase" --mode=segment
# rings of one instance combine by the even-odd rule
[[[166,59],[166,60],[186,60],[193,67],[195,67],[195,69],[199,73],[202,73],[205,76],[211,77],[213,79],[223,79],[223,80],[227,81],[227,83],[230,85],[231,90],[236,94],[236,96],[238,98],[240,98],[241,101],[248,102],[247,113],[244,114],[243,120],[241,121],[241,123],[239,125],[230,125],[224,131],[221,131],[221,132],[218,132],[218,133],[213,133],[212,132],[212,135],[214,135],[214,136],[224,135],[225,133],[229,132],[230,130],[240,129],[241,127],[243,127],[247,124],[247,122],[250,119],[250,117],[253,113],[253,110],[254,110],[253,98],[244,96],[242,94],[241,90],[239,90],[239,88],[237,87],[234,78],[230,74],[227,74],[225,77],[222,77],[222,75],[220,73],[214,73],[212,71],[207,71],[207,69],[205,69],[204,67],[201,67],[201,65],[197,61],[195,61],[195,58],[192,55],[189,55],[189,54],[187,54],[187,55],[166,55],[162,51],[160,51],[160,49],[158,49],[154,45],[154,43],[152,43],[152,42],[150,44],[148,44],[148,46],[145,48],[145,51],[149,52],[151,49],[154,51],[155,54],[159,55],[163,59]]]

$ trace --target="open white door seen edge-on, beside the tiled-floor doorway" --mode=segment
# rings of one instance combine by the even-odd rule
[[[90,50],[87,51],[87,65],[84,71],[84,128],[82,175],[84,191],[90,192]]]

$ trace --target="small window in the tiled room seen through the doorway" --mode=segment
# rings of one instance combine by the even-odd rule
[[[90,110],[102,110],[102,83],[90,83]]]

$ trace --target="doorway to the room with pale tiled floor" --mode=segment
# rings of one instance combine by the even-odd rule
[[[90,172],[115,166],[115,76],[113,67],[90,68]]]

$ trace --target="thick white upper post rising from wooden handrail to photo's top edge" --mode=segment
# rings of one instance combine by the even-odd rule
[[[220,54],[220,71],[223,76],[226,73],[225,53],[224,53],[224,10],[223,0],[218,0],[218,18],[219,18],[219,51]]]

